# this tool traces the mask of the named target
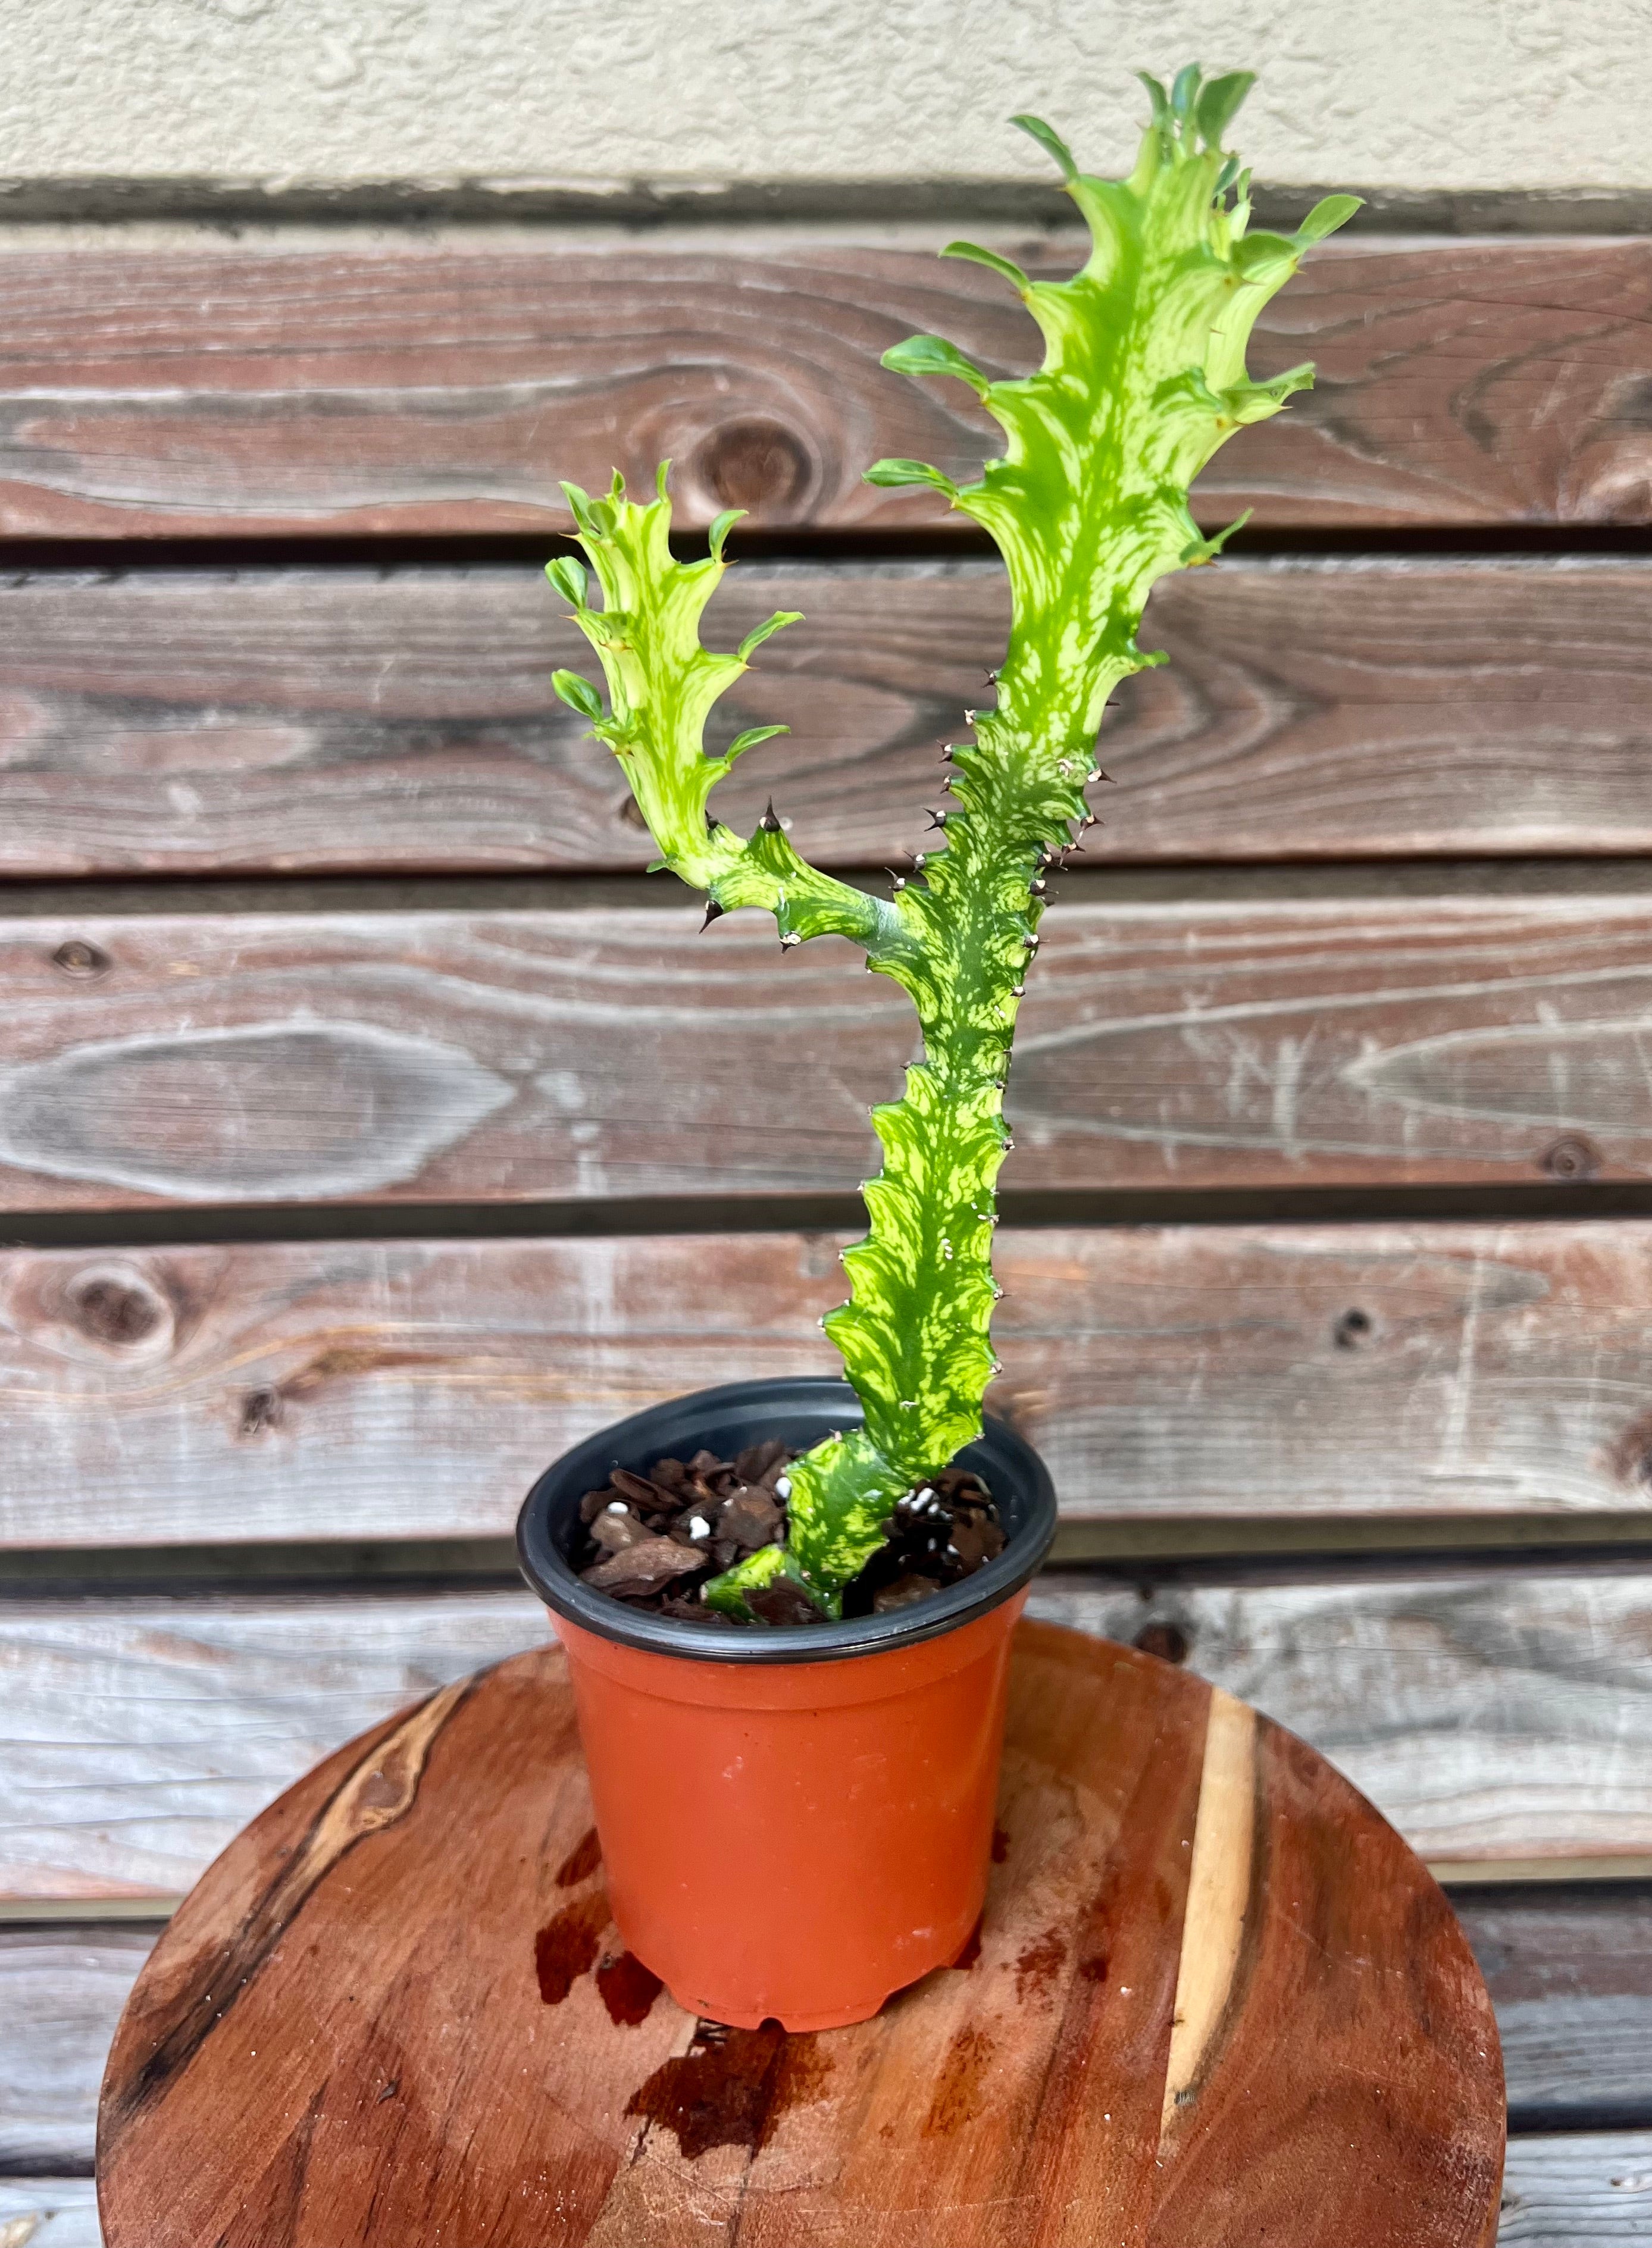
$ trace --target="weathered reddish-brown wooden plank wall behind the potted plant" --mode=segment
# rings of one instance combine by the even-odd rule
[[[726,713],[793,728],[728,816],[773,791],[877,879],[1005,623],[955,519],[859,481],[989,443],[899,335],[1029,355],[942,241],[0,238],[0,1915],[63,1920],[0,1938],[0,2244],[94,2239],[63,2181],[148,1938],[74,1915],[539,1637],[441,1556],[571,1436],[829,1365],[818,1212],[906,1007],[636,879],[533,553],[616,456],[748,508],[726,632],[809,620]],[[1639,238],[1367,236],[1274,303],[1259,371],[1319,389],[1205,479],[1250,549],[1149,611],[1005,1180],[1063,1218],[1002,1234],[998,1405],[1065,1551],[1216,1556],[1041,1610],[1261,1702],[1441,1864],[1551,1875],[1468,1915],[1537,2133],[1504,2241],[1555,2248],[1652,2237],[1645,1897],[1567,1879],[1652,1861],[1650,297]],[[1211,1223],[1234,1189],[1290,1203]],[[1110,1223],[1142,1191],[1198,1223]]]

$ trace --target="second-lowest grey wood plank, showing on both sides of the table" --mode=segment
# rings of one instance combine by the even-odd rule
[[[1522,2131],[1607,2106],[1652,2115],[1652,1911],[1594,1886],[1456,1900],[1497,2007]],[[0,2160],[92,2160],[97,2086],[144,1927],[0,1927]],[[4,2203],[0,2203],[0,2221]],[[0,2232],[0,2241],[4,2232]]]

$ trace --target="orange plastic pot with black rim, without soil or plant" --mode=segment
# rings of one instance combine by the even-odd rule
[[[611,1468],[852,1427],[847,1383],[704,1389],[623,1421],[528,1493],[517,1549],[569,1655],[614,1922],[692,2014],[825,2030],[957,1958],[980,1918],[1009,1634],[1054,1538],[1038,1454],[960,1454],[1005,1551],[888,1616],[717,1630],[591,1592],[566,1560]]]

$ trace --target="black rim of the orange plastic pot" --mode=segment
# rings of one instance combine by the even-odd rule
[[[712,1625],[679,1623],[634,1610],[607,1592],[593,1592],[569,1567],[557,1526],[566,1524],[587,1490],[600,1488],[611,1468],[645,1472],[656,1459],[699,1450],[695,1430],[717,1430],[751,1421],[746,1443],[769,1423],[796,1441],[802,1423],[805,1443],[834,1427],[856,1427],[861,1403],[845,1380],[832,1376],[780,1376],[773,1380],[724,1383],[697,1389],[665,1405],[616,1421],[564,1452],[535,1481],[517,1515],[517,1558],[521,1574],[557,1616],[580,1630],[596,1632],[625,1648],[647,1655],[677,1655],[710,1664],[820,1664],[854,1655],[886,1655],[944,1632],[1000,1607],[1034,1574],[1056,1533],[1056,1493],[1050,1470],[1034,1448],[1005,1421],[991,1414],[975,1443],[964,1445],[957,1463],[975,1468],[1009,1526],[1005,1551],[984,1569],[948,1585],[928,1601],[886,1616],[845,1616],[838,1623],[805,1623],[789,1630],[751,1625],[728,1632]]]

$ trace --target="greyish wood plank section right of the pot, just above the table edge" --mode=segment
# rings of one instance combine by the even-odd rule
[[[1050,1623],[1187,1648],[1301,1733],[1429,1861],[1652,1848],[1652,1574],[1034,1585]]]

